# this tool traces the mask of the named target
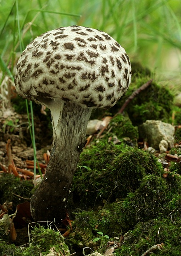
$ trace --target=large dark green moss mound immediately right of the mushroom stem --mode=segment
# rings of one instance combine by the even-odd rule
[[[81,202],[89,202],[89,205],[96,200],[100,203],[103,199],[113,202],[123,198],[138,188],[147,173],[163,172],[155,156],[137,148],[98,144],[96,152],[99,153],[95,154],[95,147],[84,151],[85,158],[81,157],[79,165],[86,168],[78,170],[73,178],[75,198],[79,194]]]

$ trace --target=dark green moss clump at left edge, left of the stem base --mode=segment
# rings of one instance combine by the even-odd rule
[[[26,201],[14,194],[21,195],[24,198],[30,198],[33,188],[34,185],[30,181],[20,180],[14,175],[3,173],[0,175],[0,202],[3,204],[5,201],[12,201],[14,211],[16,210],[17,204]]]

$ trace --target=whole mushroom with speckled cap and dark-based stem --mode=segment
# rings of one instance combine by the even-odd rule
[[[35,221],[65,218],[91,111],[114,106],[130,81],[125,49],[103,31],[60,27],[26,47],[17,63],[17,93],[47,106],[53,127],[50,162],[31,198]]]

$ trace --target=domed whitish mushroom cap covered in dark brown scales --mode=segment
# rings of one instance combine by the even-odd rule
[[[35,38],[19,58],[15,75],[23,98],[38,103],[42,97],[59,98],[95,108],[114,106],[130,81],[125,49],[105,32],[83,26],[60,27]]]

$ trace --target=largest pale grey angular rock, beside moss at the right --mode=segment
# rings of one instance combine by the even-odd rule
[[[159,120],[147,120],[139,127],[139,136],[148,142],[149,146],[159,150],[159,143],[162,140],[168,142],[168,148],[174,146],[175,128]]]

